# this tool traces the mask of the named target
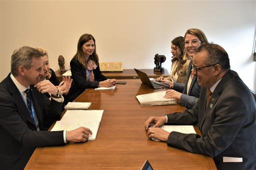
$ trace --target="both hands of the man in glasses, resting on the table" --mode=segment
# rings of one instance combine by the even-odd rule
[[[169,132],[159,128],[159,126],[163,125],[165,121],[165,116],[150,116],[144,123],[145,129],[147,130],[148,138],[167,141]],[[151,123],[154,123],[154,125],[152,127],[149,127]]]

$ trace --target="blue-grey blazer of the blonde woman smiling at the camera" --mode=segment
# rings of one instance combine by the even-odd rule
[[[186,108],[191,108],[198,101],[198,98],[200,95],[200,86],[195,76],[193,76],[192,78],[191,85],[188,90],[188,95],[186,94],[187,83],[191,73],[191,69],[192,69],[192,61],[190,61],[188,66],[188,72],[186,75],[185,83],[174,82],[174,86],[173,86],[174,90],[179,92],[182,91],[179,104],[185,106]]]

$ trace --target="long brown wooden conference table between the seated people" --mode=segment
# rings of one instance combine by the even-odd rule
[[[147,138],[145,120],[182,111],[180,105],[139,106],[135,95],[155,91],[139,79],[127,79],[112,91],[85,90],[75,101],[104,109],[96,140],[36,148],[25,169],[216,169],[212,157],[189,153]],[[198,128],[195,128],[198,133]]]

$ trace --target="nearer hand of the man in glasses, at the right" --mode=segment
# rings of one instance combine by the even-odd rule
[[[169,134],[170,133],[168,131],[165,131],[159,127],[149,127],[147,130],[148,138],[161,141],[167,141]]]

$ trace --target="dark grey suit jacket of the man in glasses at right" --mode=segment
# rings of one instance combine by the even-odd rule
[[[202,136],[172,131],[167,144],[212,156],[218,169],[256,169],[256,104],[251,92],[230,70],[205,109],[206,90],[201,88],[191,109],[167,115],[170,124],[198,123]],[[223,162],[223,156],[242,157],[243,162]]]

